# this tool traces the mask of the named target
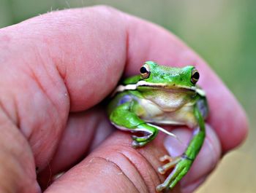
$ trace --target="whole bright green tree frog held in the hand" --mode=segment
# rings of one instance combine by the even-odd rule
[[[159,167],[159,173],[164,174],[173,168],[165,182],[157,186],[157,192],[161,192],[172,189],[187,174],[197,157],[206,135],[204,119],[208,107],[203,90],[195,85],[199,74],[193,75],[194,66],[170,68],[148,61],[142,68],[142,74],[125,79],[113,93],[113,100],[108,106],[113,125],[132,133],[143,133],[143,136],[132,135],[134,147],[146,145],[157,136],[159,130],[173,135],[151,123],[187,125],[194,129],[183,154],[174,158],[167,155],[160,158],[161,161],[170,162]]]

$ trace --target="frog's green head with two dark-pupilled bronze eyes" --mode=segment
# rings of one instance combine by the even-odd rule
[[[195,90],[199,73],[194,66],[171,68],[148,61],[140,68],[140,87]]]

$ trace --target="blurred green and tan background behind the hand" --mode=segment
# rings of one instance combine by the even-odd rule
[[[256,192],[255,0],[0,0],[0,27],[56,9],[108,4],[169,29],[198,52],[244,106],[251,130],[197,192]]]

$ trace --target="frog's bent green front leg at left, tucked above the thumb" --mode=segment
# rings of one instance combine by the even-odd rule
[[[152,141],[158,133],[157,127],[147,124],[135,113],[140,104],[137,101],[123,103],[113,109],[110,114],[110,121],[120,130],[129,130],[132,133],[142,133],[142,136],[132,135],[132,146],[140,147]]]

